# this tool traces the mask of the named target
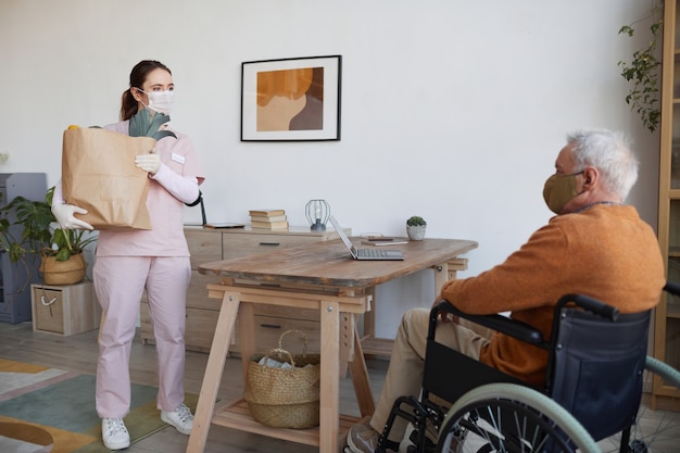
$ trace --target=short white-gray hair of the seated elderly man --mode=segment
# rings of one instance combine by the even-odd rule
[[[584,130],[567,134],[578,171],[594,166],[600,171],[604,189],[625,200],[638,180],[640,163],[620,133]]]

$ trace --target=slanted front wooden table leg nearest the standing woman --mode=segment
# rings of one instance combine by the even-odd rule
[[[215,337],[207,356],[207,365],[205,366],[205,375],[201,385],[201,393],[199,394],[199,403],[193,417],[193,427],[189,436],[187,453],[203,453],[205,449],[207,430],[213,419],[215,399],[222,381],[222,373],[227,352],[229,351],[240,301],[241,295],[238,292],[225,292],[222,298]]]

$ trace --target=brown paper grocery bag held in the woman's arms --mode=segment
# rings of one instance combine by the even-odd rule
[[[147,210],[149,176],[135,156],[150,152],[155,140],[100,128],[64,130],[62,190],[64,200],[84,207],[78,218],[95,229],[151,229]]]

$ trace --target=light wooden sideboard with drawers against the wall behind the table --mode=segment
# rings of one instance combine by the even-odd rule
[[[345,228],[345,231],[348,235],[352,234],[350,228]],[[209,282],[214,282],[214,278],[199,274],[199,265],[338,238],[335,230],[311,231],[310,227],[290,227],[287,231],[186,227],[185,235],[191,253],[191,284],[187,291],[185,341],[187,350],[199,352],[210,351],[221,306],[219,301],[207,297],[206,286]],[[255,312],[255,319],[259,350],[267,351],[274,348],[279,336],[286,330],[300,329],[307,336],[308,352],[318,352],[320,335],[318,311],[291,312],[286,307],[261,305]],[[146,294],[141,301],[140,323],[142,342],[155,344]],[[234,338],[229,352],[239,354],[238,324]],[[297,347],[297,344],[291,344],[290,349],[294,352]]]

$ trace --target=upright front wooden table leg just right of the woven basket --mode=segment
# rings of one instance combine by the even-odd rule
[[[340,430],[340,304],[322,301],[319,453],[337,453]]]

